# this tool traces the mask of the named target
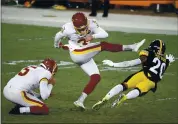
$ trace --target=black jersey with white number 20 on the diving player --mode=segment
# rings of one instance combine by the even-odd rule
[[[147,61],[142,63],[146,77],[153,82],[159,82],[169,66],[169,60],[148,49],[140,51],[139,56],[141,55],[147,56]]]

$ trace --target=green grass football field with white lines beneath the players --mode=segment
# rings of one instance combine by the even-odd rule
[[[45,101],[50,108],[49,115],[9,115],[8,112],[13,104],[7,101],[2,94],[2,123],[178,123],[177,59],[167,69],[155,94],[149,92],[144,97],[126,101],[126,104],[119,108],[111,109],[109,105],[115,100],[113,98],[104,108],[92,111],[92,105],[113,86],[121,83],[127,76],[141,68],[141,66],[137,66],[114,70],[102,65],[104,59],[111,59],[114,62],[131,60],[137,58],[138,53],[100,53],[95,57],[95,61],[101,70],[102,80],[86,99],[87,110],[81,112],[74,110],[73,102],[80,96],[89,78],[77,65],[72,63],[68,51],[53,48],[53,37],[59,29],[4,23],[1,26],[1,93],[7,81],[26,65],[38,64],[46,57],[54,58],[61,65],[56,74],[57,83],[53,89],[54,95]],[[167,45],[166,53],[178,57],[178,36],[109,32],[109,38],[105,40],[131,44],[144,38],[146,43],[141,48],[147,47],[150,41],[159,38],[164,40]],[[63,43],[67,43],[66,40]]]

